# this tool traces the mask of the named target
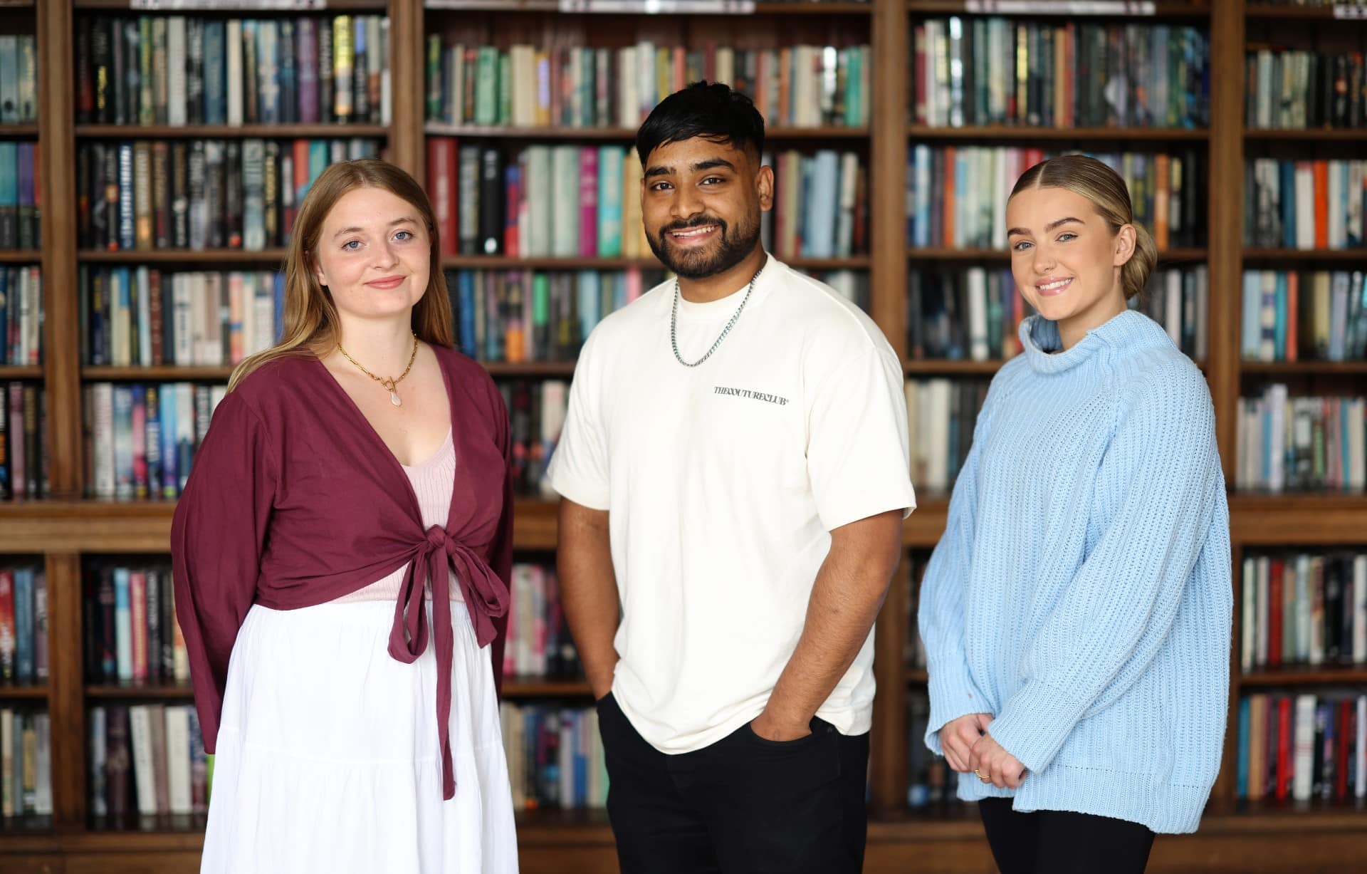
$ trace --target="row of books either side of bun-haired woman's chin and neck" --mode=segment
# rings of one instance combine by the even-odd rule
[[[1204,264],[1163,268],[1144,294],[1129,300],[1167,331],[1173,343],[1204,361],[1210,271]],[[992,361],[1021,350],[1017,331],[1031,308],[1007,268],[912,269],[906,275],[908,357]]]

